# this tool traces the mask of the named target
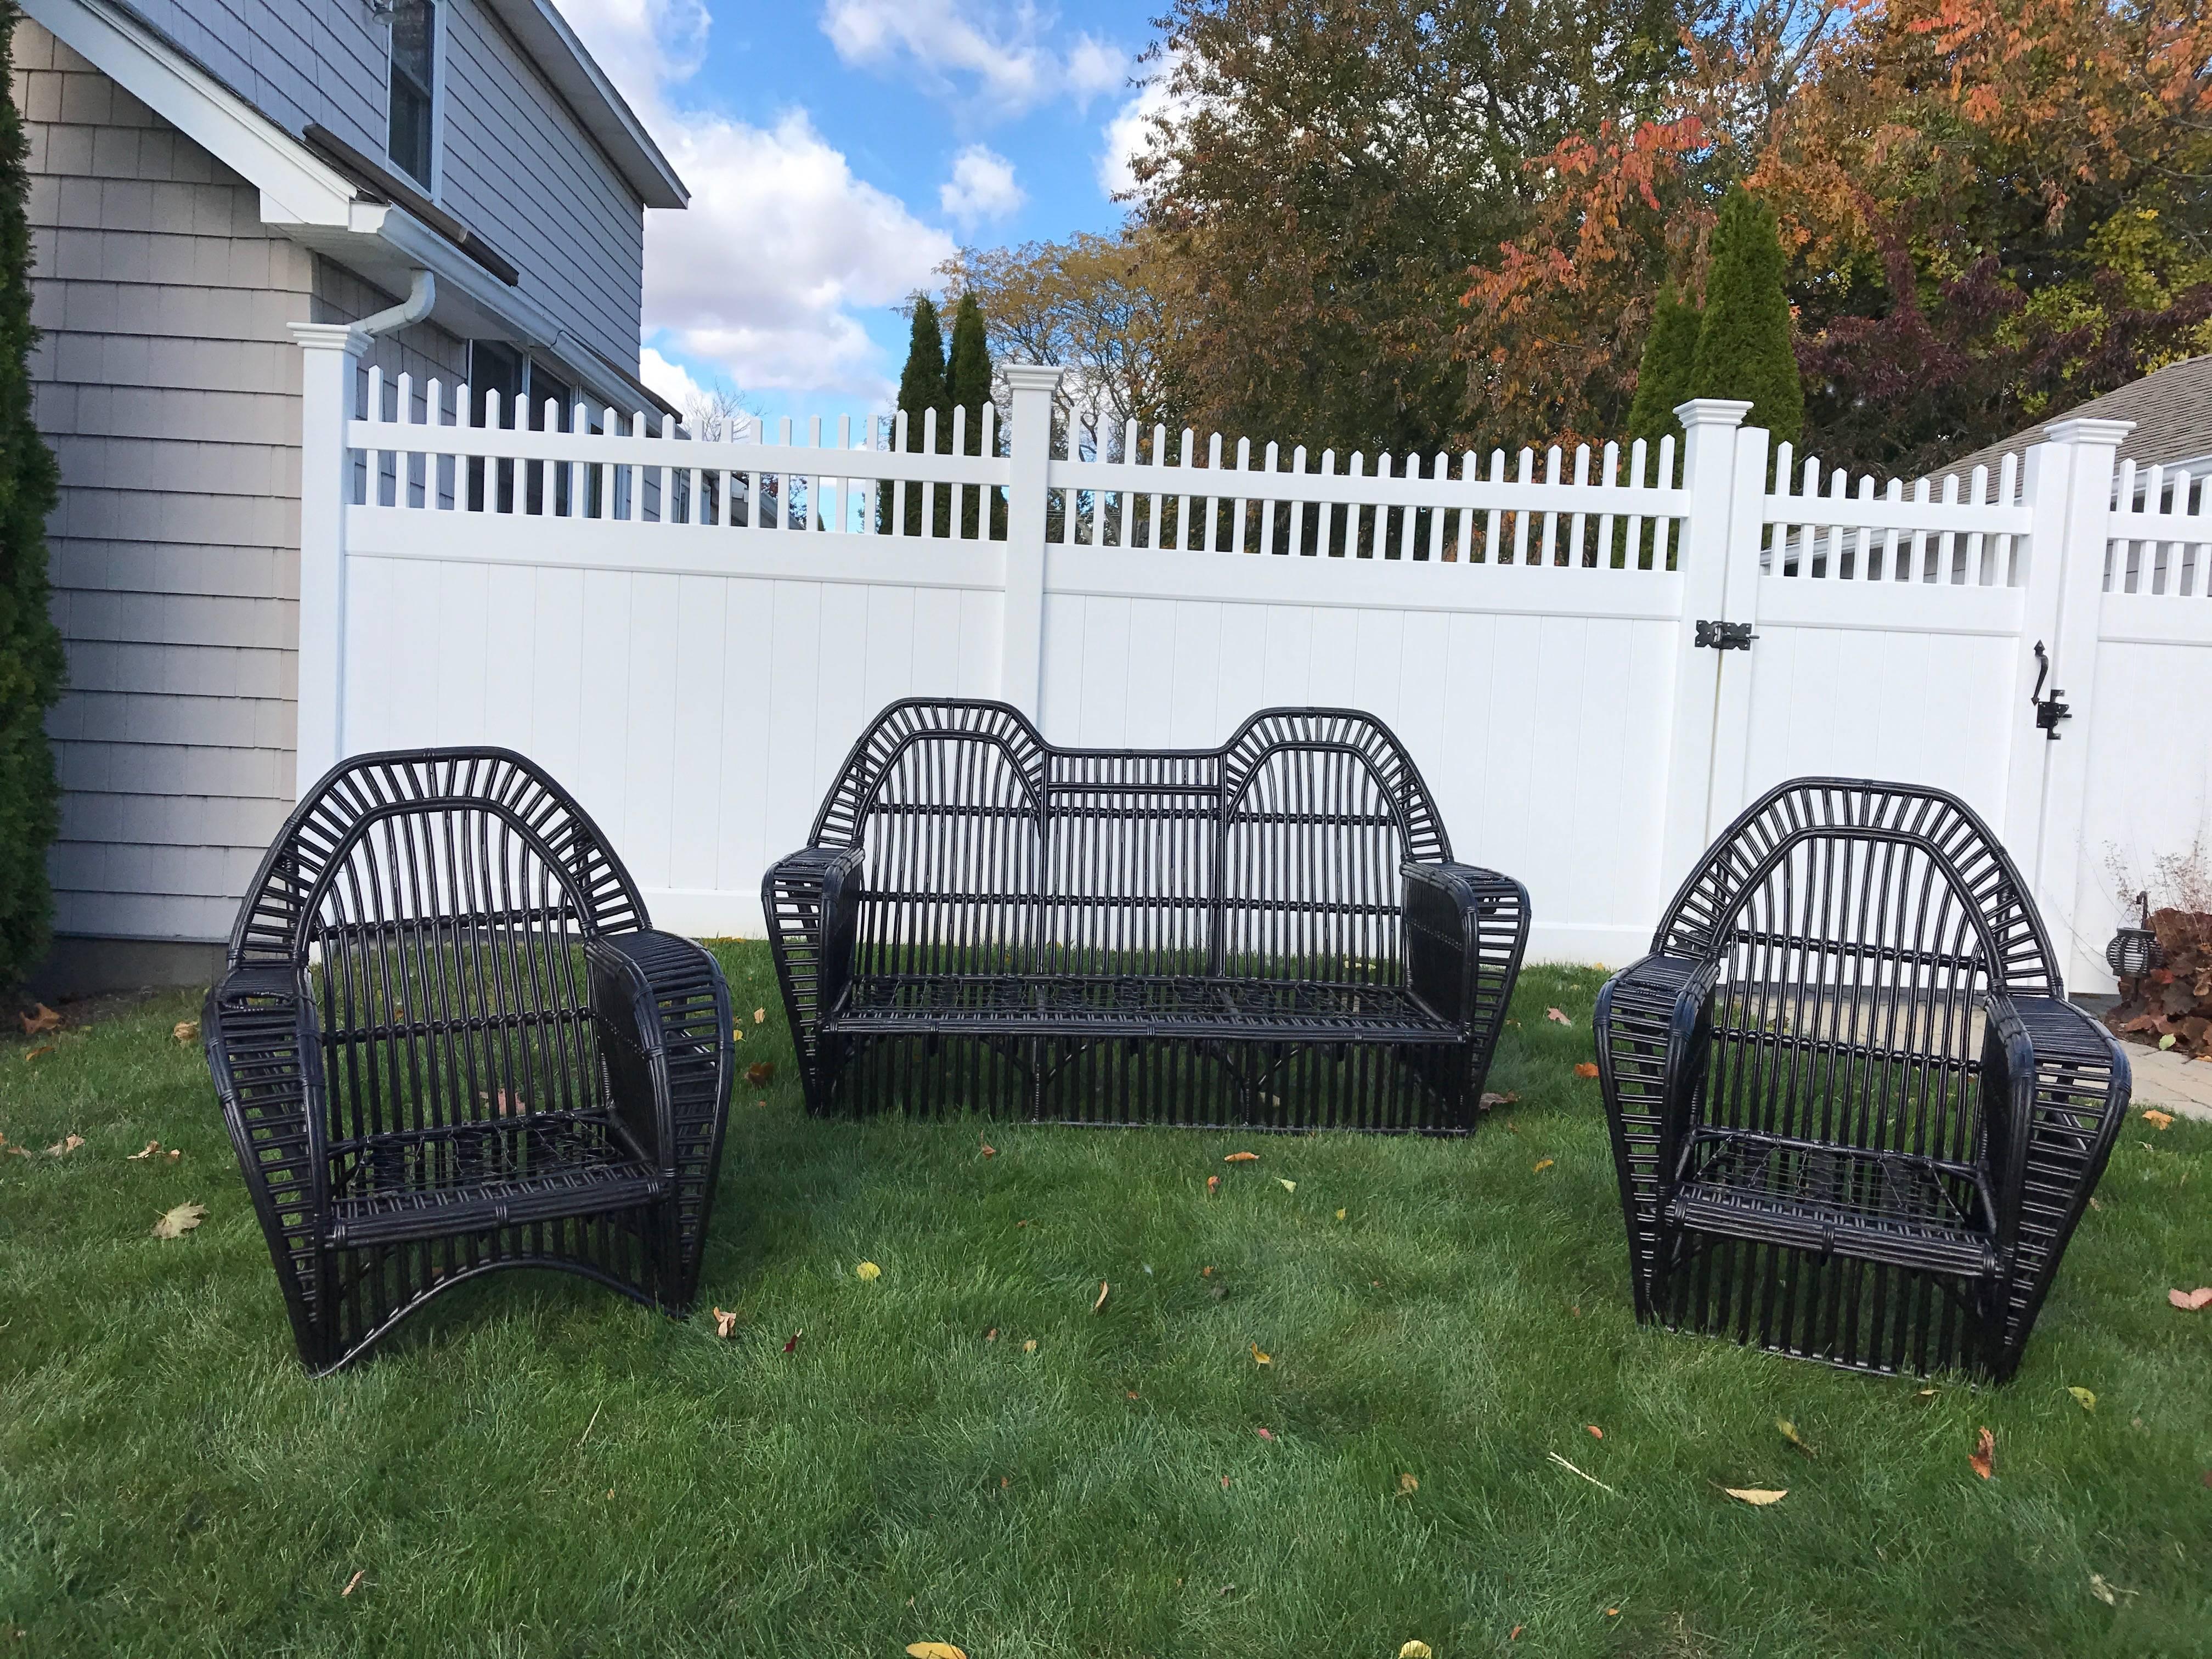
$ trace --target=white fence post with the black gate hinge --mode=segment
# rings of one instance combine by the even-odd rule
[[[1730,513],[1736,498],[1736,429],[1752,405],[1739,398],[1690,398],[1674,416],[1688,434],[1683,456],[1683,518],[1674,568],[1681,573],[1679,637],[1674,641],[1674,730],[1668,741],[1666,823],[1659,834],[1659,891],[1652,920],[1674,885],[1690,874],[1712,841],[1714,719],[1721,706],[1719,650],[1701,650],[1697,622],[1725,617]],[[1747,617],[1743,617],[1747,619]]]

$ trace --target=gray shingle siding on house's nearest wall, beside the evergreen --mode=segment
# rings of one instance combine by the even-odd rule
[[[15,64],[38,175],[38,422],[62,467],[55,922],[221,940],[292,805],[290,325],[392,296],[265,232],[259,190],[35,24]],[[416,327],[376,361],[453,378],[462,347]]]

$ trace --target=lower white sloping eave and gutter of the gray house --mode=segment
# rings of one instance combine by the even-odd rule
[[[513,265],[487,257],[467,226],[374,164],[369,168],[385,184],[365,179],[358,153],[319,150],[294,137],[124,0],[24,0],[24,13],[259,188],[261,221],[272,230],[336,259],[387,294],[405,294],[414,272],[429,270],[438,279],[431,316],[453,334],[513,338],[557,358],[602,394],[619,387],[630,407],[675,414],[675,405],[637,378],[635,365],[611,361],[515,288]],[[327,135],[323,142],[327,146]]]

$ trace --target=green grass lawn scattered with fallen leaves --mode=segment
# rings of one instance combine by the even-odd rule
[[[509,1274],[310,1383],[197,1004],[0,1042],[9,1144],[84,1137],[0,1157],[0,1659],[2212,1652],[2203,1126],[2130,1117],[2017,1380],[1929,1396],[1635,1325],[1597,973],[1524,975],[1444,1144],[814,1121],[726,964],[783,1062],[728,1340]]]

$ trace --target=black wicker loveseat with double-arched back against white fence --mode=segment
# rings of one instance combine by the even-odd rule
[[[1528,896],[1451,863],[1371,714],[1053,748],[891,703],[763,883],[812,1110],[1458,1133]]]

